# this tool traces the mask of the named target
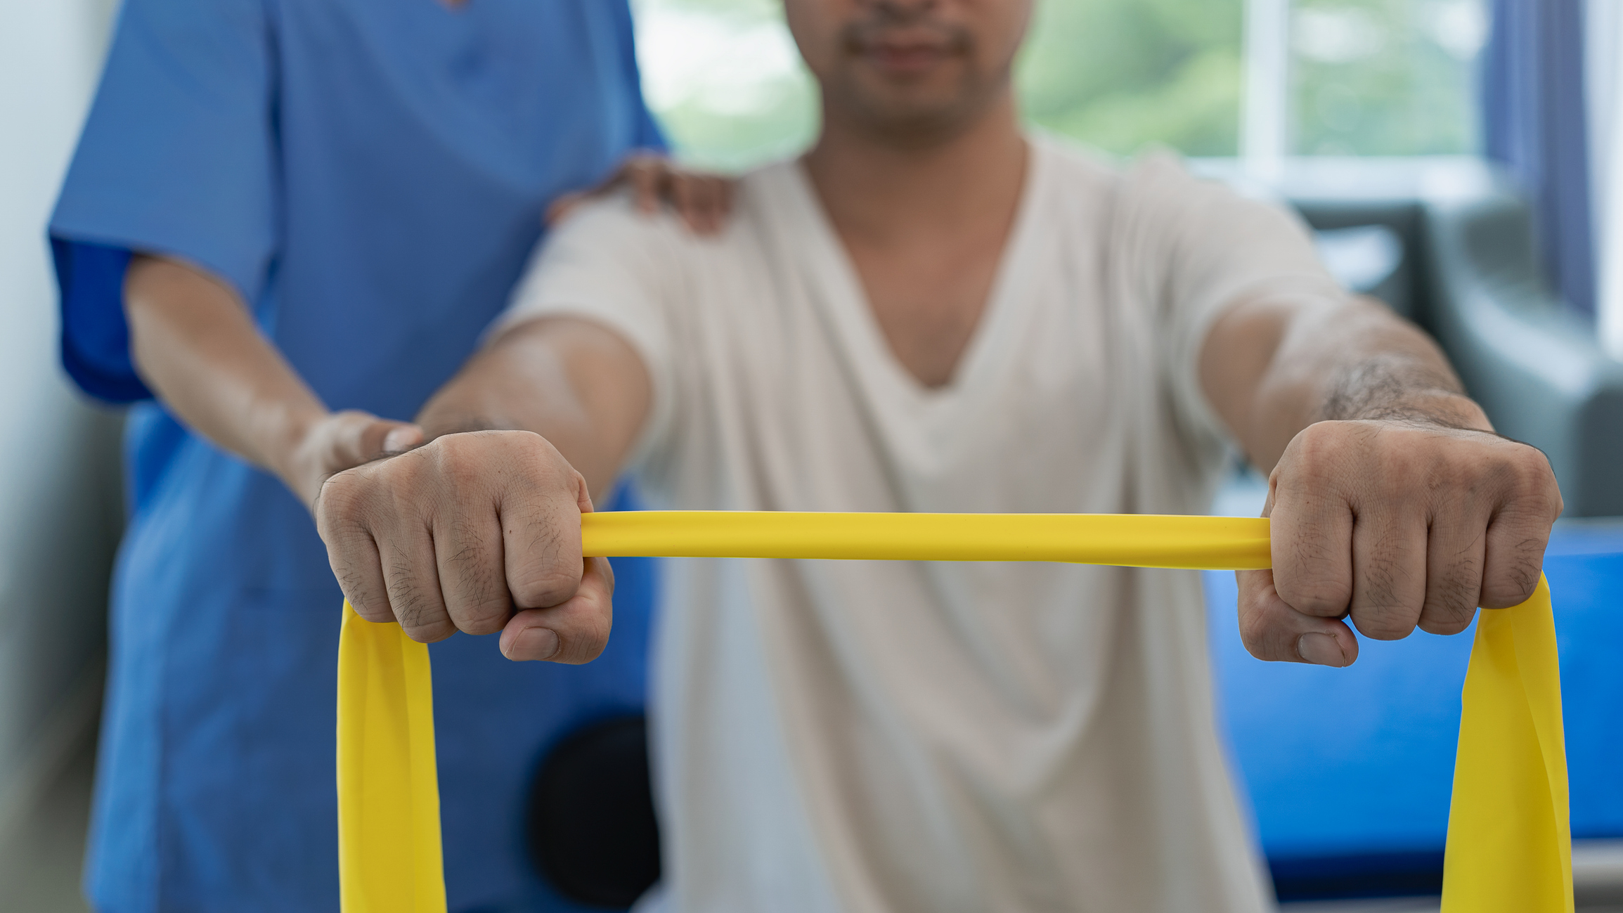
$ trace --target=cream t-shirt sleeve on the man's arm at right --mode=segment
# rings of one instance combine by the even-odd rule
[[[1131,227],[1146,250],[1138,269],[1159,302],[1157,347],[1182,422],[1232,439],[1199,379],[1201,347],[1232,305],[1259,295],[1341,298],[1302,221],[1282,206],[1198,180],[1170,154],[1128,175]]]

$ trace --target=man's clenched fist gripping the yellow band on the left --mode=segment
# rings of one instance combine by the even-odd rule
[[[581,558],[591,509],[545,438],[472,431],[339,472],[315,521],[362,618],[422,642],[500,631],[510,660],[584,663],[613,618],[609,561]]]

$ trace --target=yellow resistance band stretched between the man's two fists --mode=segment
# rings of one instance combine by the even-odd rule
[[[588,556],[1269,566],[1266,519],[1105,514],[597,512]],[[338,658],[344,913],[443,913],[428,650],[344,605]],[[1550,589],[1485,611],[1466,675],[1444,913],[1569,913],[1561,688]]]

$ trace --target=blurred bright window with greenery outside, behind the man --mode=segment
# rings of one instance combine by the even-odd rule
[[[633,2],[683,157],[737,170],[812,141],[779,0]],[[1472,152],[1485,34],[1483,0],[1037,0],[1016,83],[1032,123],[1120,154],[1233,156],[1242,123],[1248,152]]]

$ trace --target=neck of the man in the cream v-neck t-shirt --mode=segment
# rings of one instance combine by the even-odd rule
[[[935,235],[1010,212],[1026,175],[1026,138],[1005,96],[961,133],[928,144],[875,135],[828,110],[805,154],[836,230],[850,242]]]

